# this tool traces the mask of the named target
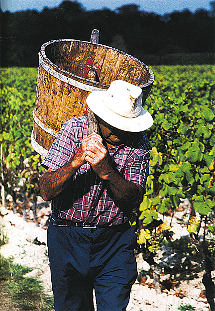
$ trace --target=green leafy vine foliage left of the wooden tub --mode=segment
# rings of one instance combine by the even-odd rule
[[[13,170],[20,165],[20,156],[24,160],[36,155],[30,143],[36,83],[35,68],[0,70],[0,141],[6,166]]]

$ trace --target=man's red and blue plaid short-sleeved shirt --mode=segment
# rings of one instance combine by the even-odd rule
[[[57,170],[75,156],[87,135],[86,116],[70,119],[61,128],[42,165]],[[151,146],[144,132],[139,133],[138,140],[131,140],[126,145],[108,148],[109,161],[125,179],[145,189]],[[52,200],[51,208],[59,218],[97,225],[118,225],[132,215],[126,203],[114,200],[106,182],[89,163],[78,169],[69,186]]]

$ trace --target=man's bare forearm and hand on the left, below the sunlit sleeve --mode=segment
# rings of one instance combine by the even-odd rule
[[[79,167],[86,163],[87,146],[93,145],[96,141],[102,142],[102,138],[95,133],[85,137],[74,158],[70,159],[69,162],[56,171],[48,169],[40,179],[40,194],[43,200],[52,200],[67,187],[70,179],[77,172]]]

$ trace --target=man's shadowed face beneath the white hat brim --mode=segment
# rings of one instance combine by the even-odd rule
[[[122,131],[118,128],[115,128],[109,125],[107,122],[98,117],[100,129],[103,135],[103,138],[106,140],[108,147],[119,146],[121,145],[128,132]]]

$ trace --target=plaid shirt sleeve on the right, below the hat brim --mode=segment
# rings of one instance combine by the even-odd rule
[[[124,170],[124,178],[139,184],[144,190],[146,190],[146,180],[149,175],[150,151],[151,146],[147,140],[144,145],[134,149]]]

